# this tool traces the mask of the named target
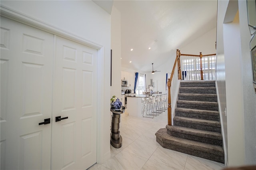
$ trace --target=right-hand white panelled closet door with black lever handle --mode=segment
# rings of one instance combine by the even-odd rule
[[[97,50],[58,36],[55,46],[52,169],[86,169],[96,163]]]

